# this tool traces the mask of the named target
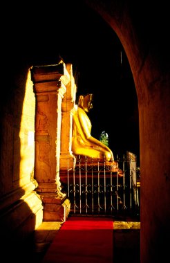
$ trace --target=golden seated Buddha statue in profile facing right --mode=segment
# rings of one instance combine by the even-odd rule
[[[73,154],[113,162],[114,157],[111,149],[91,136],[91,120],[86,113],[93,108],[92,102],[93,94],[79,96],[77,110],[73,114]]]

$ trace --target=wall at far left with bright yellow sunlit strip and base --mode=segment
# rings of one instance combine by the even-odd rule
[[[35,95],[30,71],[18,78],[15,96],[8,98],[1,123],[0,229],[4,239],[18,229],[20,239],[41,224],[43,208],[37,196],[35,167]],[[28,227],[29,226],[29,227]]]

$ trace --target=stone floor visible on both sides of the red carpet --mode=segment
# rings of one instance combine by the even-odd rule
[[[35,262],[40,263],[62,222],[43,222],[35,230]],[[140,222],[113,221],[114,263],[140,263]]]

